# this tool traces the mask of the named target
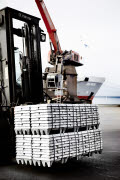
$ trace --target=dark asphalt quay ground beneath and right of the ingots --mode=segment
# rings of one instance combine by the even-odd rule
[[[99,107],[103,153],[52,168],[0,166],[0,180],[120,180],[120,107]]]

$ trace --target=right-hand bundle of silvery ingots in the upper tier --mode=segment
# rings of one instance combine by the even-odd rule
[[[44,104],[31,106],[31,130],[33,134],[49,134],[51,130],[91,128],[99,125],[98,108],[95,105]]]

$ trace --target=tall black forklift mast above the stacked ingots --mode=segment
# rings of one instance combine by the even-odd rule
[[[13,26],[13,20],[24,22],[21,29]],[[9,7],[0,11],[0,105],[12,106],[43,102],[43,82],[40,41],[43,31],[39,18]],[[24,53],[15,58],[14,35],[24,42]],[[19,62],[16,62],[19,61]],[[21,83],[17,83],[19,64]]]

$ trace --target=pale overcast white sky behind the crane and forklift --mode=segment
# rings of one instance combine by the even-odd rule
[[[63,50],[74,50],[84,66],[78,76],[105,77],[101,92],[120,95],[120,0],[44,0],[57,29]],[[9,6],[40,17],[34,0],[0,0]],[[41,19],[40,27],[46,31]],[[42,67],[47,64],[49,37],[42,43]],[[104,89],[108,87],[108,89]],[[105,91],[105,92],[104,92]]]

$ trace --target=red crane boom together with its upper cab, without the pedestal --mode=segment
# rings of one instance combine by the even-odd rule
[[[43,21],[45,23],[45,26],[47,28],[50,40],[52,42],[52,45],[54,47],[54,51],[52,51],[51,56],[50,56],[50,63],[54,64],[56,61],[57,55],[62,55],[62,59],[66,61],[67,63],[71,63],[72,65],[75,66],[81,66],[82,64],[80,63],[80,56],[78,53],[74,51],[62,51],[60,42],[57,36],[57,30],[55,29],[55,26],[52,22],[52,19],[48,13],[48,10],[45,6],[45,3],[43,0],[35,0],[38,9],[40,11],[40,14],[43,18]],[[52,48],[51,48],[52,49]]]

